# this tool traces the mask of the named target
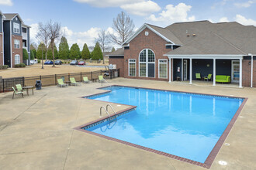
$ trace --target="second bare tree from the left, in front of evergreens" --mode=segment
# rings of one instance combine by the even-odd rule
[[[50,20],[49,22],[47,22],[46,28],[47,28],[47,35],[50,39],[50,46],[51,46],[52,53],[53,53],[53,59],[55,59],[54,58],[54,42],[55,42],[55,40],[60,39],[62,36],[61,23],[52,22]],[[54,62],[53,66],[55,66],[55,62]]]

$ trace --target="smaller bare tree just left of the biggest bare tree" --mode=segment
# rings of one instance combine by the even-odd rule
[[[102,29],[99,34],[98,34],[98,38],[95,39],[95,42],[99,42],[99,46],[102,49],[102,53],[103,53],[103,64],[105,64],[105,52],[106,50],[109,50],[109,35],[106,33],[106,31],[104,29]]]

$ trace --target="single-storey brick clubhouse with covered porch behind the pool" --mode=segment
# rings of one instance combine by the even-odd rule
[[[144,24],[122,46],[109,54],[109,63],[125,78],[192,83],[200,73],[202,79],[212,75],[213,86],[223,75],[239,87],[256,87],[254,26],[209,21],[165,28]]]

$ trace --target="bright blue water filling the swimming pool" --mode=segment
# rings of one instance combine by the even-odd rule
[[[243,102],[133,87],[104,89],[112,91],[89,98],[137,109],[86,130],[202,163]]]

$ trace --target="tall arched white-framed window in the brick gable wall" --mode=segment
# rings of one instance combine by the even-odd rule
[[[154,77],[154,52],[151,49],[143,49],[140,52],[140,76]]]

